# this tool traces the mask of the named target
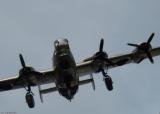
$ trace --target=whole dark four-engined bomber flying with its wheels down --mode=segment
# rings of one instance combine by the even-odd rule
[[[104,39],[101,39],[99,51],[80,63],[75,62],[67,39],[56,40],[54,42],[55,50],[52,58],[52,70],[36,71],[33,67],[26,66],[24,58],[22,54],[20,54],[19,58],[22,69],[19,70],[19,75],[0,80],[0,91],[25,88],[27,92],[25,99],[29,108],[35,107],[34,94],[31,90],[31,87],[34,86],[38,86],[42,103],[43,94],[56,91],[71,101],[78,92],[80,85],[92,83],[92,87],[95,90],[93,73],[102,73],[106,88],[112,91],[113,81],[107,73],[109,69],[129,63],[139,64],[147,58],[151,63],[154,63],[153,57],[160,55],[160,47],[152,48],[151,41],[153,37],[154,33],[150,35],[147,42],[141,44],[128,43],[129,46],[135,47],[132,52],[113,57],[108,57],[108,54],[103,50]],[[81,77],[87,75],[90,75],[90,77],[85,80],[80,80]],[[41,85],[50,83],[55,83],[55,87],[41,88]]]

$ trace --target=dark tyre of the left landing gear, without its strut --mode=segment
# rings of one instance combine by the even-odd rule
[[[29,108],[34,108],[35,102],[34,102],[34,98],[33,98],[33,93],[27,92],[26,102],[27,102]]]

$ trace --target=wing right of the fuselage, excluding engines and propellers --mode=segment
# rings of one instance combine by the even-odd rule
[[[160,55],[160,47],[153,48],[152,50],[150,50],[150,53],[152,57]],[[77,71],[78,71],[79,76],[82,77],[85,75],[90,75],[92,73],[98,73],[99,66],[101,64],[103,64],[103,67],[105,69],[111,69],[111,68],[123,66],[129,63],[137,63],[136,60],[141,59],[141,58],[142,59],[147,58],[147,55],[145,52],[141,52],[141,53],[131,52],[128,54],[122,54],[122,55],[113,56],[113,57],[108,58],[109,61],[114,63],[114,65],[111,65],[108,63],[103,64],[99,61],[94,61],[94,60],[84,61],[84,62],[77,64]]]

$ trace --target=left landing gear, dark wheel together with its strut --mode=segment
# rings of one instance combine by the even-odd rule
[[[26,93],[26,103],[28,104],[29,108],[34,108],[35,107],[35,102],[34,102],[34,98],[33,98],[33,92],[31,91],[31,87],[28,86],[27,93]]]

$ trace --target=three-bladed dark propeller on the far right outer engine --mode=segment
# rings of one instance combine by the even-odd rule
[[[152,33],[150,35],[150,37],[148,38],[147,42],[143,42],[141,43],[140,45],[138,44],[132,44],[132,43],[128,43],[129,46],[133,46],[133,47],[136,47],[138,49],[138,51],[143,51],[146,53],[148,59],[150,60],[150,62],[153,64],[154,63],[154,60],[153,60],[153,57],[152,57],[152,54],[150,53],[150,49],[152,49],[152,46],[151,46],[151,41],[153,40],[153,37],[154,37],[154,33]]]

